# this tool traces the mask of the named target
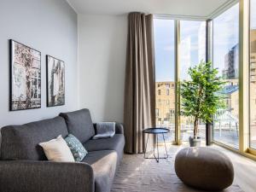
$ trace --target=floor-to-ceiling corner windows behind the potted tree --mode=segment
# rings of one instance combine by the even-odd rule
[[[214,114],[213,129],[209,129],[213,142],[241,154],[256,154],[256,0],[240,3],[230,4],[209,21],[154,19],[156,124],[171,130],[168,141],[178,143],[193,136],[194,119],[176,111],[182,98],[175,88],[179,81],[190,80],[189,67],[211,58],[212,67],[218,68],[224,80],[223,89],[216,93],[222,96],[224,108]],[[239,108],[244,111],[239,113]],[[205,139],[206,125],[199,124],[199,135]]]

